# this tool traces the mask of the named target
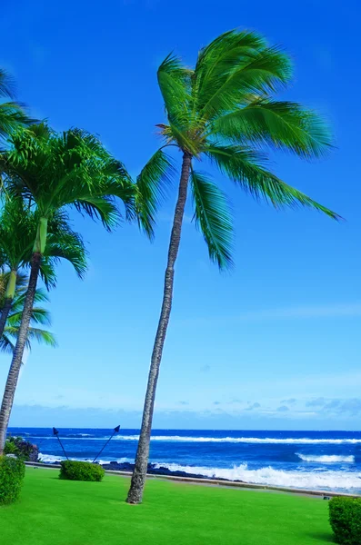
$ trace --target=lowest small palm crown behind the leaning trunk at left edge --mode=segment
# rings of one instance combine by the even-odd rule
[[[0,273],[0,311],[4,310],[5,306],[5,289],[8,283],[8,277],[11,272]],[[5,331],[0,335],[0,352],[13,353],[15,350],[14,341],[16,341],[19,326],[21,322],[21,314],[24,308],[25,293],[26,293],[27,277],[24,273],[17,274],[15,294],[11,312],[7,317]],[[43,290],[37,289],[35,292],[35,303],[48,302],[49,299]],[[31,326],[27,332],[26,348],[31,349],[31,342],[43,342],[48,346],[56,346],[55,337],[52,332],[36,327],[38,325],[50,325],[50,313],[41,306],[34,306],[32,310]]]

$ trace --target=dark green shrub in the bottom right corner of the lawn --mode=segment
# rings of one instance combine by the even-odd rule
[[[360,545],[361,498],[333,498],[329,502],[329,512],[336,542],[342,545]]]

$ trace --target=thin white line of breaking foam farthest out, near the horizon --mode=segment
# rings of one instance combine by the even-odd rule
[[[138,441],[139,435],[117,435],[114,438],[117,441]],[[309,439],[303,438],[285,438],[278,439],[274,437],[187,437],[183,435],[154,435],[151,441],[186,441],[186,442],[230,442],[230,443],[275,443],[275,444],[358,444],[361,439]]]

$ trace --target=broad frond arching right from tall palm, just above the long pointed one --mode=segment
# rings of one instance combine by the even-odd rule
[[[322,117],[290,102],[257,99],[216,119],[211,131],[237,143],[268,144],[306,158],[322,156],[332,147]]]

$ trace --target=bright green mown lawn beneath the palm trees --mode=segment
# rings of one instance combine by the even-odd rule
[[[148,481],[142,505],[127,479],[59,481],[27,468],[18,503],[0,508],[2,545],[323,545],[327,501],[285,493]]]

